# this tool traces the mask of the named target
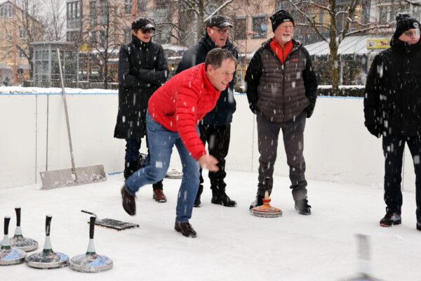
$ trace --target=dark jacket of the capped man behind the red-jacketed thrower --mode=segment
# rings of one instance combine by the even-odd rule
[[[187,68],[199,63],[204,63],[206,55],[210,50],[216,48],[215,44],[208,37],[208,34],[203,34],[203,37],[199,40],[199,43],[185,51],[182,56],[180,65],[175,73],[180,73]],[[234,55],[236,59],[239,58],[239,54],[236,48],[229,40],[222,48],[227,48]],[[215,107],[210,111],[201,121],[202,124],[211,124],[221,126],[232,122],[232,115],[236,110],[236,102],[234,99],[234,84],[235,84],[235,73],[234,79],[229,83],[228,89],[221,92],[221,96],[218,99]]]

